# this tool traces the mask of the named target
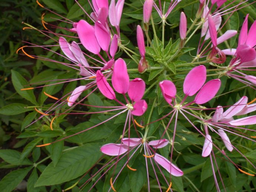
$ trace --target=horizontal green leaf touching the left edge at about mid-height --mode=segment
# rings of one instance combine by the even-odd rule
[[[27,105],[23,105],[21,103],[12,103],[6,105],[0,109],[0,114],[2,115],[18,115],[20,113],[27,112],[31,109],[26,108]]]

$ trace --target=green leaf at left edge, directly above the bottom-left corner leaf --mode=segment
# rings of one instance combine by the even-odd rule
[[[12,165],[32,165],[33,163],[25,158],[24,160],[20,160],[21,153],[16,150],[11,149],[3,149],[0,150],[0,158],[2,158],[7,163]]]

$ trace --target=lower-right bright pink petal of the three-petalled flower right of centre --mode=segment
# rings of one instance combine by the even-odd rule
[[[197,93],[194,102],[201,105],[211,100],[220,89],[220,84],[221,82],[219,79],[213,79],[207,82]]]

